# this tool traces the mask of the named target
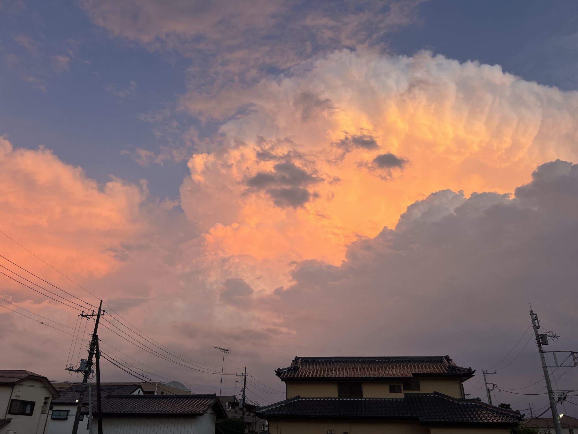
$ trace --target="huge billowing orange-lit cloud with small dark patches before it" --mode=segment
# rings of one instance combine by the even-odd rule
[[[512,192],[577,156],[576,93],[429,53],[341,50],[236,97],[251,112],[192,156],[181,187],[222,254],[338,264],[429,192]]]

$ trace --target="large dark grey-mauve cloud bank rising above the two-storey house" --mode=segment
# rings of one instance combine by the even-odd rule
[[[576,222],[578,165],[565,161],[538,167],[513,198],[442,190],[410,205],[396,229],[351,244],[340,266],[298,263],[294,284],[262,306],[318,355],[450,354],[478,375],[524,336],[492,382],[514,389],[538,381],[523,392],[543,393],[528,303],[562,336],[550,350],[578,347]],[[484,396],[478,380],[465,383],[472,397]],[[578,388],[578,372],[558,386]],[[497,402],[527,407],[523,396],[495,393]],[[544,395],[531,399],[547,406]]]

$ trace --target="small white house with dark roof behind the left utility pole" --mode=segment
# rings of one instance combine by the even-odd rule
[[[82,386],[72,385],[62,391],[60,396],[53,399],[49,410],[49,422],[46,428],[46,434],[67,434],[72,433],[74,425],[78,399]],[[86,390],[86,389],[85,389]],[[91,384],[92,402],[97,402],[97,387]],[[131,385],[101,385],[101,397],[110,395],[110,393],[120,395],[143,395],[143,389],[140,384]],[[83,406],[88,405],[88,393],[84,393]],[[88,429],[88,417],[81,416],[79,422],[79,432],[86,432]]]

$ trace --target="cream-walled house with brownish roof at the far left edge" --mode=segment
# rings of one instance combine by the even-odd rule
[[[1,432],[42,434],[54,398],[58,392],[48,378],[21,369],[0,370]]]

